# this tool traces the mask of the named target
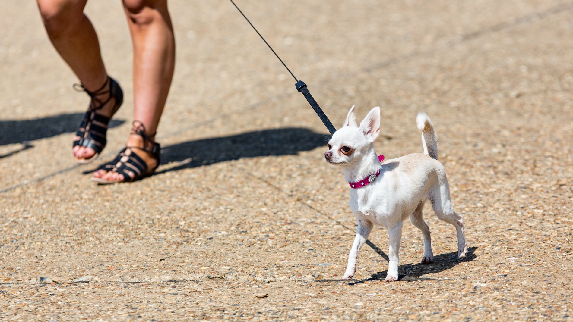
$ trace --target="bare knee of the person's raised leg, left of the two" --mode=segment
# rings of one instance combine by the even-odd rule
[[[51,36],[57,36],[69,30],[73,27],[74,21],[79,18],[74,17],[73,9],[67,1],[38,0],[37,2],[42,21]]]

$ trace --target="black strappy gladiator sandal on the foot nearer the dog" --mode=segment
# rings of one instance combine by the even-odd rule
[[[143,148],[139,148],[138,146],[125,146],[125,148],[121,150],[119,154],[117,154],[117,156],[115,157],[115,159],[113,159],[113,161],[100,166],[96,170],[96,171],[106,170],[107,172],[116,172],[123,174],[123,181],[108,181],[102,178],[92,177],[93,181],[96,181],[99,184],[115,184],[117,182],[130,182],[151,176],[151,174],[155,172],[155,170],[158,168],[161,162],[159,156],[161,146],[159,145],[159,143],[156,143],[155,141],[151,140],[150,136],[145,134],[145,126],[143,125],[142,122],[139,121],[133,122],[133,127],[131,128],[131,134],[137,134],[138,136],[143,138]],[[151,136],[154,135],[155,133],[151,134]],[[146,141],[153,144],[153,147],[151,149],[145,148]],[[134,149],[151,153],[152,156],[155,158],[155,160],[157,160],[157,165],[153,169],[148,168],[146,162],[143,161],[143,159],[140,158],[137,154],[135,154]]]

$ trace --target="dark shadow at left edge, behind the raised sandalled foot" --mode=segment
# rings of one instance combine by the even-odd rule
[[[67,113],[32,120],[0,120],[0,145],[40,140],[62,133],[74,133],[83,116],[84,113]],[[108,128],[114,128],[123,122],[125,121],[111,120]],[[24,143],[24,145],[29,144]],[[70,138],[70,148],[71,146],[72,138]]]

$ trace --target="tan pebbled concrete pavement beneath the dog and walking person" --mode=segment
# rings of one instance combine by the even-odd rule
[[[126,92],[108,146],[76,165],[88,105],[33,2],[0,11],[0,320],[571,320],[573,2],[237,1],[335,126],[382,108],[377,152],[421,152],[431,117],[470,256],[424,213],[403,228],[400,280],[375,229],[354,238],[328,132],[230,2],[170,1],[173,86],[163,165],[131,184],[90,172],[123,147],[131,41],[119,1],[91,1]],[[262,293],[262,294],[261,294]],[[256,297],[267,294],[266,297]]]

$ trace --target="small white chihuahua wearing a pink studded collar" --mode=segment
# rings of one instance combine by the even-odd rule
[[[422,218],[422,208],[430,200],[439,219],[456,227],[458,256],[465,257],[468,245],[464,235],[462,216],[454,212],[450,188],[444,166],[438,161],[438,137],[426,113],[418,113],[418,129],[422,130],[424,153],[413,153],[388,160],[380,165],[383,156],[374,152],[374,140],[380,132],[380,108],[368,113],[360,126],[356,124],[354,106],[346,121],[328,142],[326,160],[342,166],[344,178],[350,184],[350,209],[356,216],[358,228],[348,255],[344,280],[356,272],[358,251],[374,225],[381,225],[390,234],[388,275],[385,281],[398,280],[398,251],[402,236],[402,221],[410,221],[422,230],[424,257],[422,264],[433,261],[430,229]]]

